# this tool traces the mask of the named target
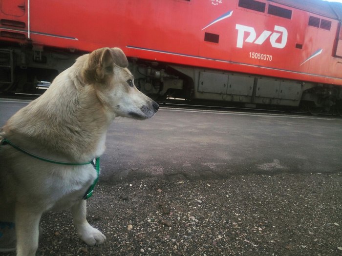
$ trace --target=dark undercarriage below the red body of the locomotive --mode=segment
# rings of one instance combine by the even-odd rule
[[[83,53],[42,47],[0,48],[0,95],[41,94],[40,88],[71,66]],[[135,85],[163,102],[181,98],[187,102],[238,105],[249,108],[306,110],[317,115],[342,116],[341,86],[262,77],[129,58]]]

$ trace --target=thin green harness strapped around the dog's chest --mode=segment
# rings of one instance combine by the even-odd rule
[[[55,164],[64,164],[64,165],[85,165],[85,164],[92,164],[96,170],[96,178],[93,182],[93,184],[88,188],[88,190],[85,192],[85,195],[82,197],[82,199],[88,199],[89,197],[91,197],[93,195],[94,192],[94,187],[97,183],[97,181],[99,180],[99,175],[100,175],[100,158],[94,158],[91,161],[88,162],[84,162],[84,163],[70,163],[70,162],[60,162],[60,161],[55,161],[55,160],[51,160],[51,159],[47,159],[47,158],[42,158],[40,156],[34,155],[30,152],[27,152],[26,150],[18,147],[16,144],[13,144],[11,141],[9,141],[8,139],[4,138],[0,145],[11,145],[12,147],[14,147],[15,149],[19,150],[20,152],[29,155],[32,158],[37,158],[39,160],[45,161],[45,162],[49,162],[49,163],[55,163]],[[95,162],[94,162],[95,160]]]

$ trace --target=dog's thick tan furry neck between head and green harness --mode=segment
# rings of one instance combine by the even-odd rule
[[[67,79],[73,83],[65,83]],[[10,118],[3,131],[37,155],[86,161],[105,150],[107,129],[114,116],[104,107],[94,87],[67,76]]]

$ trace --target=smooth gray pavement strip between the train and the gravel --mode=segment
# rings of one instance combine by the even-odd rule
[[[0,126],[26,101],[0,101]],[[117,118],[103,180],[146,176],[342,170],[342,118],[161,108],[144,121]]]

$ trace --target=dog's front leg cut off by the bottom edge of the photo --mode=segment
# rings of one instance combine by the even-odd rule
[[[35,256],[38,249],[39,222],[43,212],[16,204],[17,256]]]

